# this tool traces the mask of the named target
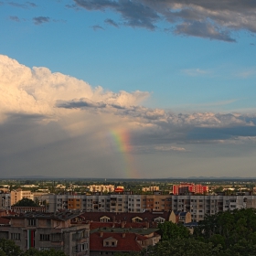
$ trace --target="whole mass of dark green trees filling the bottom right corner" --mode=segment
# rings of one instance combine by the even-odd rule
[[[256,209],[235,209],[206,216],[191,234],[183,225],[159,224],[162,239],[142,256],[255,256]],[[116,254],[119,255],[119,254]],[[121,254],[120,254],[121,255]],[[125,254],[122,254],[125,255]]]

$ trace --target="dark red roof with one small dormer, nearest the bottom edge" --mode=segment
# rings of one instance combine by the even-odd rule
[[[103,240],[107,238],[117,240],[117,246],[103,246]],[[90,236],[90,251],[142,251],[143,248],[137,240],[145,240],[145,238],[134,233],[125,233],[123,238],[122,233],[95,232]]]

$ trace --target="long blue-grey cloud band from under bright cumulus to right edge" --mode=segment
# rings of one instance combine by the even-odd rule
[[[88,112],[112,112],[141,123],[133,133],[134,144],[204,143],[205,141],[256,138],[256,118],[232,113],[173,113],[141,106],[123,106],[88,99],[58,101],[56,107]],[[145,124],[145,125],[144,125]]]

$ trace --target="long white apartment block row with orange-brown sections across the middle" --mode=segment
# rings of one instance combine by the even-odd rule
[[[186,211],[192,221],[204,218],[206,214],[235,208],[256,208],[256,196],[195,196],[195,195],[50,195],[49,211],[79,209],[80,211],[144,212],[144,211]]]

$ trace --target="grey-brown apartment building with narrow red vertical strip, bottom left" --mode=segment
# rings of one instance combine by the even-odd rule
[[[0,238],[14,240],[23,251],[36,248],[60,250],[69,256],[89,254],[90,224],[81,223],[80,213],[27,212],[3,218],[10,224],[1,227]]]

